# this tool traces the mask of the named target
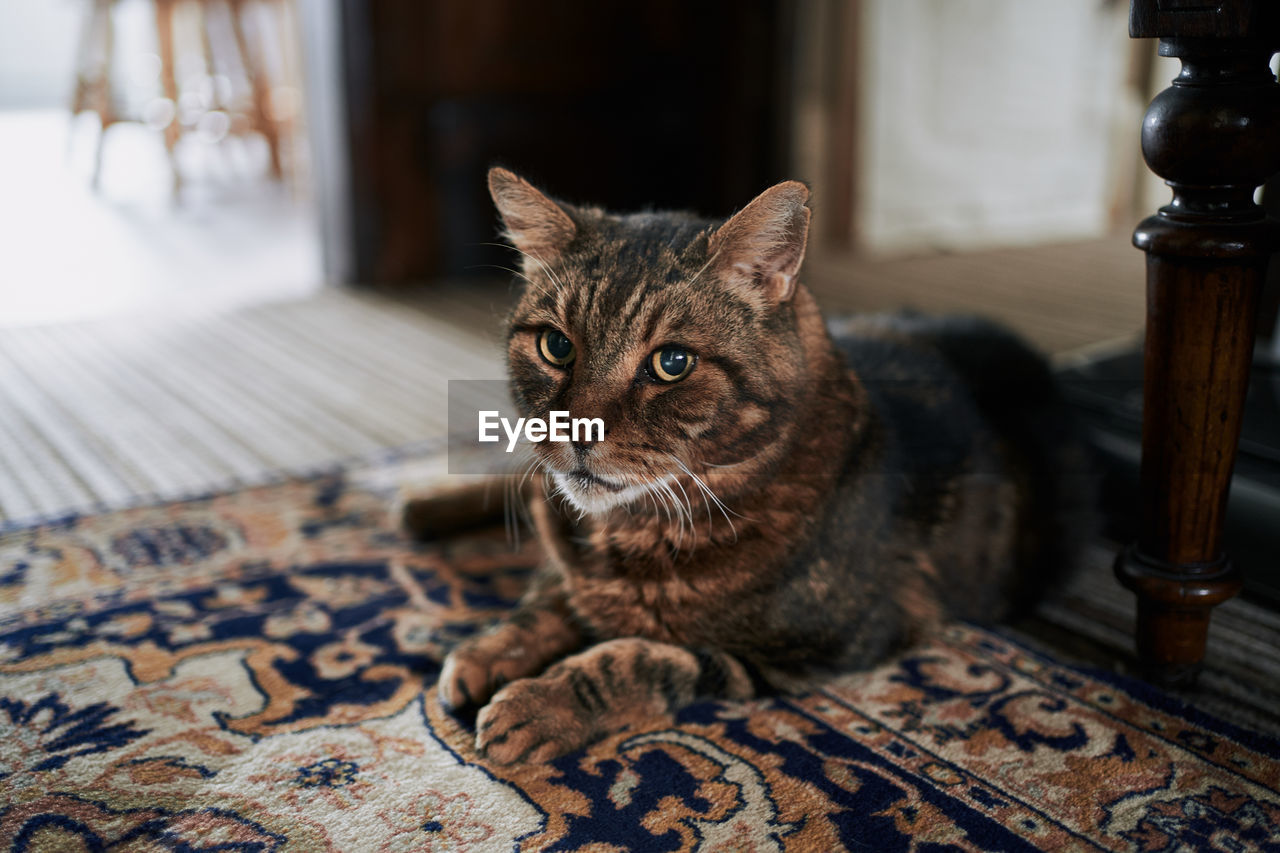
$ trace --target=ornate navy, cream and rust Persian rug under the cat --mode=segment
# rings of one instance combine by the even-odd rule
[[[12,850],[1280,850],[1280,744],[954,625],[799,697],[493,767],[433,683],[518,597],[403,462],[0,538]]]

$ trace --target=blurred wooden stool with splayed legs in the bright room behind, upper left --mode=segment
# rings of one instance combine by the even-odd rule
[[[141,122],[163,131],[175,191],[182,183],[182,174],[174,151],[179,138],[189,129],[200,129],[214,138],[259,133],[266,141],[271,177],[284,177],[282,137],[291,129],[300,99],[294,87],[271,86],[268,64],[274,58],[282,76],[289,64],[285,42],[289,35],[288,22],[292,20],[291,0],[152,0],[161,92],[147,101],[141,114],[122,105],[120,92],[113,82],[116,59],[113,12],[118,0],[88,3],[77,51],[76,88],[70,109],[72,118],[92,111],[97,113],[101,122],[93,158],[95,187],[102,170],[106,132],[119,122]],[[261,13],[257,26],[251,20],[255,8]],[[273,12],[276,28],[274,40],[268,37],[270,33],[262,26],[265,15]],[[197,61],[205,69],[202,91],[188,87],[179,90],[179,67],[189,65],[195,59],[178,49],[175,32],[178,18],[183,13],[192,15],[197,35],[189,41],[200,42]],[[215,23],[221,26],[211,26]],[[247,31],[257,36],[253,38],[255,44],[251,44]],[[247,88],[247,104],[242,108],[236,102],[230,82],[233,76],[242,78]]]

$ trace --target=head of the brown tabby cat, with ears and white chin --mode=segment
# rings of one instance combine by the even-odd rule
[[[557,488],[591,514],[741,488],[737,474],[772,456],[804,393],[808,188],[780,183],[724,223],[572,206],[504,169],[489,188],[521,252],[516,406],[604,421],[603,441],[535,444]]]

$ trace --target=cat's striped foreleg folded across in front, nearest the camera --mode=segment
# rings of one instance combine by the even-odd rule
[[[613,639],[498,690],[476,717],[476,748],[503,765],[549,761],[695,699],[753,695],[750,672],[730,654]]]

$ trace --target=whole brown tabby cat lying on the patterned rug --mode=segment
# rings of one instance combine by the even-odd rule
[[[974,319],[824,324],[796,278],[804,184],[723,224],[571,206],[504,169],[489,188],[524,259],[516,406],[605,428],[534,446],[543,566],[444,662],[440,701],[479,708],[489,760],[805,689],[1015,613],[1069,562],[1083,451],[1044,361]],[[404,523],[465,507],[421,498]]]

